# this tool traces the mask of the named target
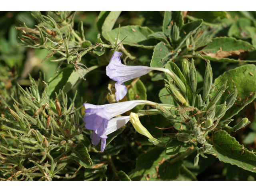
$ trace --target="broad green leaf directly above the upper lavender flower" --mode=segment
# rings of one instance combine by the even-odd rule
[[[113,41],[115,41],[117,33],[118,33],[118,28],[109,31],[108,35],[111,37]],[[137,25],[124,26],[124,27],[120,27],[119,39],[122,40],[126,36],[128,36],[122,42],[122,44],[153,49],[154,46],[156,45],[156,40],[148,37],[148,35],[152,33],[153,31],[150,30],[148,27],[141,27]],[[106,33],[103,33],[102,36],[107,41],[109,41]]]

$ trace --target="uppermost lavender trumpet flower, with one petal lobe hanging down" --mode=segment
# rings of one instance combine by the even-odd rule
[[[122,64],[120,56],[122,53],[115,51],[108,66],[106,67],[106,74],[110,79],[116,81],[116,100],[119,101],[127,93],[127,88],[124,82],[140,77],[148,72],[155,70],[147,66],[126,66]]]

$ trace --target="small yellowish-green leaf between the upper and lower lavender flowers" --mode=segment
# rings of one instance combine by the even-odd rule
[[[126,86],[130,85],[132,80],[125,82]],[[146,88],[141,80],[138,80],[127,92],[126,98],[132,100],[147,100]],[[132,109],[132,112],[137,113],[144,105],[137,105]]]

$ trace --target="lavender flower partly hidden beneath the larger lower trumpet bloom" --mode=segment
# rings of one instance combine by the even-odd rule
[[[110,121],[108,121],[108,126],[102,136],[98,136],[98,134],[93,131],[90,136],[90,138],[92,139],[92,144],[98,145],[101,139],[100,151],[103,152],[106,147],[106,138],[108,138],[107,135],[124,126],[129,121],[129,118],[129,116],[112,118]]]

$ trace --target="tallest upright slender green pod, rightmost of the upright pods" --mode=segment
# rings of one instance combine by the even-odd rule
[[[212,86],[212,68],[210,61],[207,60],[207,66],[204,73],[204,91],[203,91],[203,101],[205,102],[209,96],[209,92]]]

